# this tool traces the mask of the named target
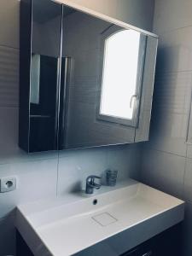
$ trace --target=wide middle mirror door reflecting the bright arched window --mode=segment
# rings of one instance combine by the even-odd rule
[[[146,41],[77,10],[64,16],[60,149],[134,143]]]

